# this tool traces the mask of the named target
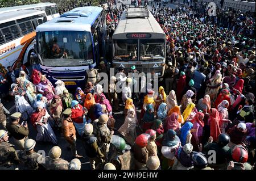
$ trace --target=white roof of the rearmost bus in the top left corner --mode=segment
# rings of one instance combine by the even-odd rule
[[[56,4],[51,3],[51,2],[44,2],[44,3],[34,4],[34,5],[2,7],[2,8],[0,8],[0,14],[5,13],[5,12],[15,11],[15,10],[26,10],[26,9],[33,9],[33,8],[37,8],[37,7],[39,8],[39,7],[44,7],[44,6],[56,6]]]

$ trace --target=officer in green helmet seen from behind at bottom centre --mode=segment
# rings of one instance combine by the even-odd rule
[[[113,135],[112,144],[114,145],[114,153],[110,158],[117,170],[133,170],[134,159],[131,154],[131,146],[127,145],[122,137]]]

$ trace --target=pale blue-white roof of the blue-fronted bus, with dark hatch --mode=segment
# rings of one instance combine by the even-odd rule
[[[90,31],[90,26],[102,11],[102,7],[77,7],[58,18],[36,27],[38,31]]]

